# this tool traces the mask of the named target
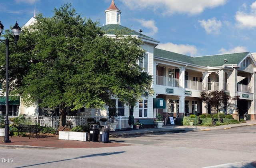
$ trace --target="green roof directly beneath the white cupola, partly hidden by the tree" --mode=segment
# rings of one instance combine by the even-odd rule
[[[129,31],[128,35],[151,38],[151,37],[148,37],[144,34],[140,34],[140,33],[136,32],[134,30],[131,30],[130,28],[124,27],[120,24],[107,24],[105,26],[102,26],[101,28],[102,28],[102,30],[106,31],[106,34],[115,34],[115,30],[128,29],[128,31]],[[151,38],[151,39],[153,39],[153,38]]]

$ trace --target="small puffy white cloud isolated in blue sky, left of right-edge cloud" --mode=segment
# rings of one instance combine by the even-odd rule
[[[198,22],[200,22],[200,26],[202,26],[208,34],[211,34],[211,33],[218,34],[220,27],[222,26],[221,21],[216,20],[216,18],[211,18],[211,19],[208,19],[207,21],[198,20]]]

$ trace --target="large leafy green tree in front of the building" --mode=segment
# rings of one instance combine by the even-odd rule
[[[67,108],[111,105],[113,96],[134,106],[140,96],[152,94],[152,76],[138,65],[142,40],[105,36],[98,22],[82,18],[71,4],[54,8],[51,18],[36,19],[22,31],[18,46],[10,46],[10,93],[27,105],[59,106],[64,126]],[[5,36],[11,38],[10,31]],[[4,53],[3,45],[0,49]],[[4,82],[3,68],[0,75]]]

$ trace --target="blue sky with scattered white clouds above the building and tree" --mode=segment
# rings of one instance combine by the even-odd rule
[[[9,28],[23,26],[39,12],[51,17],[54,8],[71,3],[83,17],[106,22],[112,0],[2,0],[0,21]],[[160,44],[157,48],[204,56],[256,52],[255,0],[115,0],[121,24],[142,29]]]

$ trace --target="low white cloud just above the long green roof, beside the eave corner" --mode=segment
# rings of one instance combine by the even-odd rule
[[[176,52],[179,54],[184,54],[187,56],[197,56],[197,48],[196,46],[193,45],[188,45],[188,44],[173,44],[171,42],[164,43],[164,44],[158,44],[156,48],[166,50],[166,51],[171,51],[171,52]]]

